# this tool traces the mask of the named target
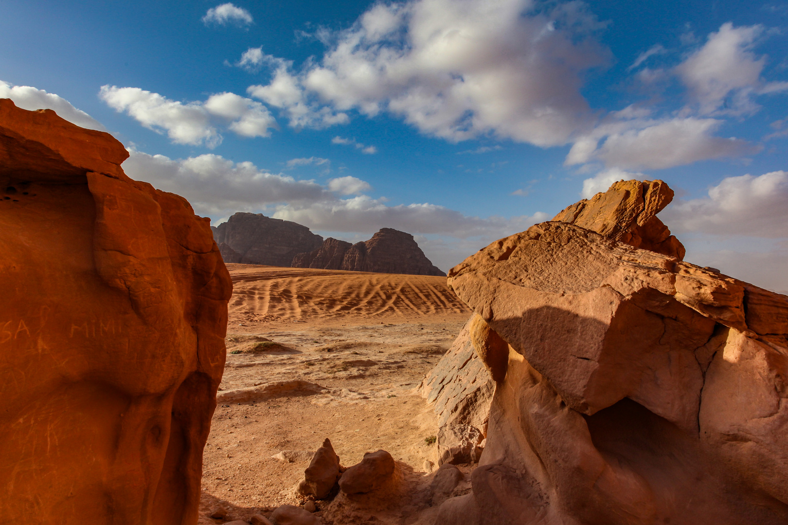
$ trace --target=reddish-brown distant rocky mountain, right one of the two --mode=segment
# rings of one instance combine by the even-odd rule
[[[329,237],[318,250],[296,255],[292,266],[352,272],[446,275],[424,255],[413,235],[392,228],[381,228],[370,240],[353,245]]]

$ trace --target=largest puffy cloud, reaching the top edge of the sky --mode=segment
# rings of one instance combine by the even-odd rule
[[[582,74],[607,56],[593,39],[596,21],[580,6],[377,3],[333,35],[321,61],[299,72],[283,62],[269,85],[249,93],[272,105],[284,93],[290,105],[317,96],[338,115],[388,111],[452,141],[493,134],[563,144],[591,124]]]

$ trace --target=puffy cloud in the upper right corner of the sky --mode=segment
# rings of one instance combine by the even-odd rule
[[[763,30],[760,25],[734,28],[727,22],[675,68],[701,114],[753,113],[758,109],[753,95],[788,90],[788,82],[765,83],[760,78],[766,57],[756,57],[752,48]]]

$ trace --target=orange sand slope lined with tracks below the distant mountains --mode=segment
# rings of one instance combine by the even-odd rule
[[[344,272],[228,264],[233,320],[330,321],[467,316],[470,309],[433,275]]]

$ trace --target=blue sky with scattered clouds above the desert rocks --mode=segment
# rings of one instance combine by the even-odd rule
[[[688,261],[788,290],[784,2],[5,0],[0,34],[0,96],[214,223],[396,227],[446,270],[658,178]]]

